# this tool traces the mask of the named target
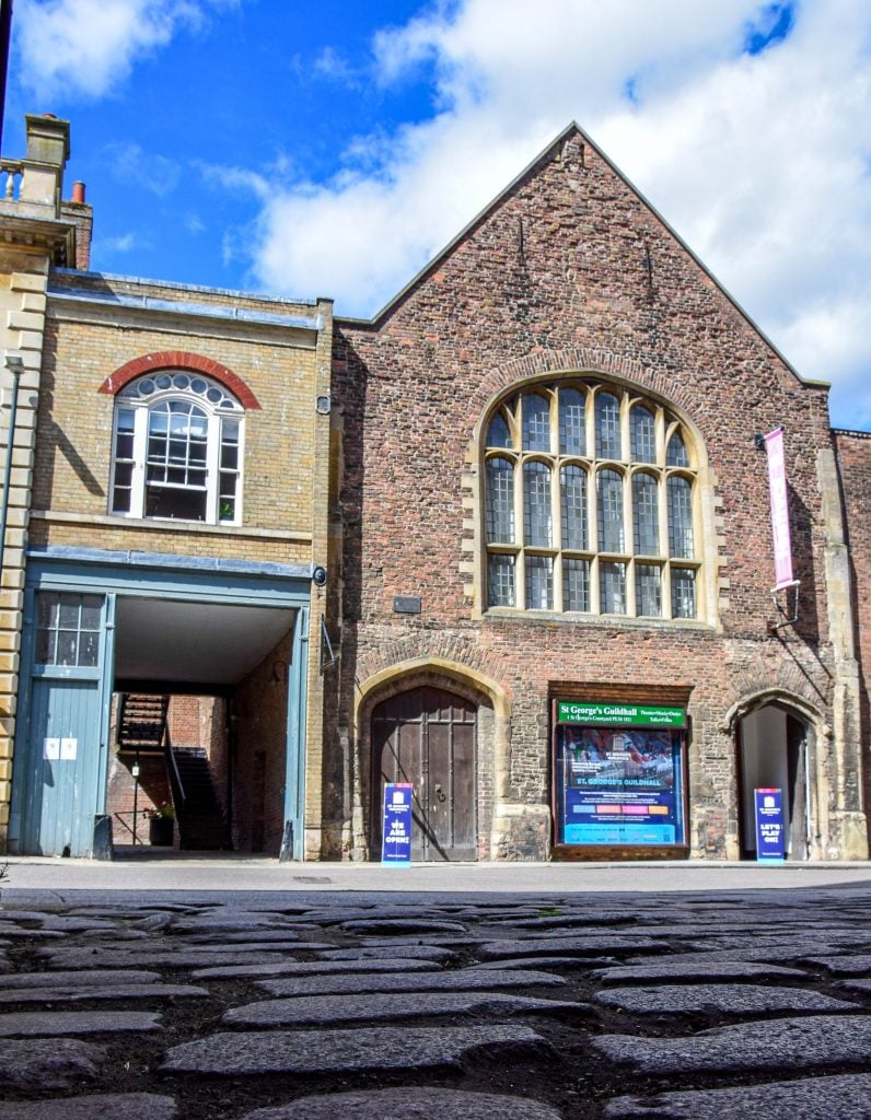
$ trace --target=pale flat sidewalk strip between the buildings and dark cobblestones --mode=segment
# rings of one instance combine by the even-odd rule
[[[137,852],[112,862],[49,857],[0,857],[7,902],[30,890],[240,890],[492,893],[665,893],[804,889],[871,885],[871,862],[759,866],[711,860],[620,864],[279,864],[215,853]],[[20,900],[20,899],[19,899]]]

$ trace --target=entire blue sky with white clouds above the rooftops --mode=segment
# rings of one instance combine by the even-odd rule
[[[871,430],[871,4],[15,0],[92,267],[370,316],[571,121]]]

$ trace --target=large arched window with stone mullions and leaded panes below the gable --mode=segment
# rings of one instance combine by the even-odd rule
[[[489,608],[697,617],[693,445],[665,405],[566,377],[500,402],[485,432]]]

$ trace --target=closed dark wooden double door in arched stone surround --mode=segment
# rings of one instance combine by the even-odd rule
[[[478,853],[475,725],[470,700],[418,688],[372,712],[372,855],[381,851],[383,787],[414,785],[411,858],[470,860]]]

